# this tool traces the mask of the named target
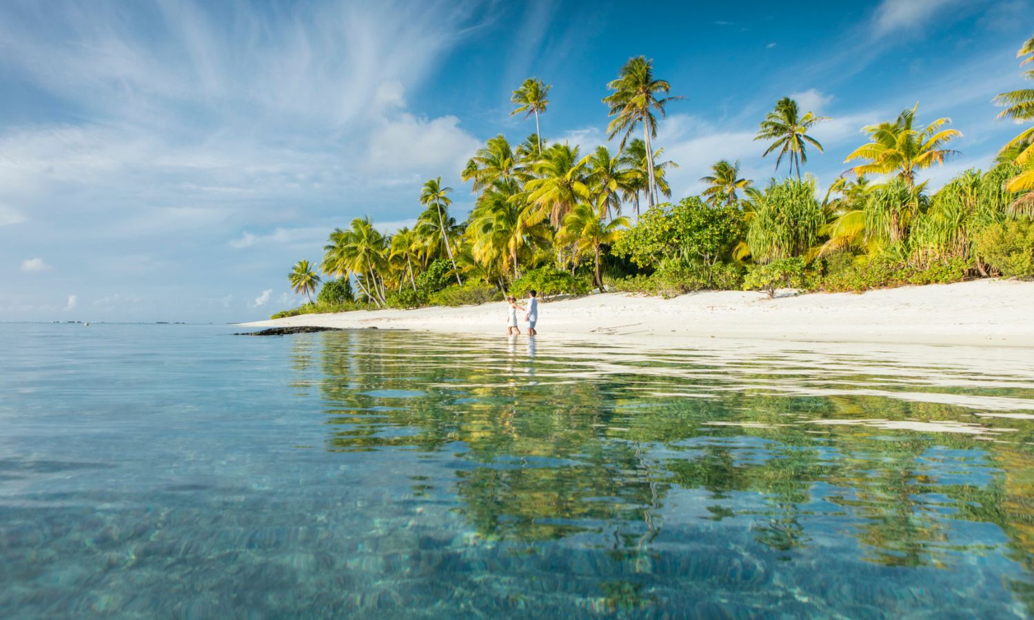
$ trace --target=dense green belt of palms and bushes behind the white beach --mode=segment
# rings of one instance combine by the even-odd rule
[[[1021,56],[1034,59],[1034,38]],[[536,131],[519,144],[496,135],[470,157],[460,173],[475,193],[465,221],[450,214],[453,189],[428,180],[412,227],[385,234],[357,218],[333,230],[318,266],[331,279],[314,303],[290,313],[480,304],[530,289],[545,299],[606,289],[773,296],[781,287],[1034,277],[1034,127],[1005,145],[990,171],[966,171],[931,191],[919,176],[959,155],[951,143],[961,133],[946,118],[920,120],[915,105],[864,127],[869,141],[846,161],[853,167],[820,190],[801,168],[810,152],[822,152],[809,132],[826,119],[785,97],[757,134],[777,172],[788,164],[785,178],[762,189],[738,162],[720,159],[699,196],[672,205],[661,200],[676,164],[652,141],[656,115],[678,97],[652,71],[652,61],[633,58],[608,85],[608,133],[620,141],[616,151],[588,153],[542,135],[550,86],[526,80],[512,102],[514,114],[535,118]],[[999,95],[1001,116],[1034,120],[1031,92]],[[312,267],[299,261],[290,275],[310,300],[321,281]]]

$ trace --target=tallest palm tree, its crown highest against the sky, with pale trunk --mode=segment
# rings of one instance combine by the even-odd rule
[[[617,80],[607,85],[607,88],[614,91],[604,97],[603,102],[610,110],[609,116],[614,117],[607,125],[608,140],[612,140],[619,132],[621,136],[620,148],[624,149],[629,137],[636,126],[643,126],[643,144],[646,150],[646,172],[648,180],[646,183],[646,196],[648,206],[657,205],[657,179],[653,168],[653,148],[650,146],[650,137],[657,137],[657,118],[653,117],[653,110],[664,117],[664,106],[669,101],[681,99],[681,97],[668,97],[671,85],[664,80],[653,79],[653,61],[646,60],[646,57],[639,56],[630,58]]]

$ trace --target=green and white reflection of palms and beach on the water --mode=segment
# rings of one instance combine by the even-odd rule
[[[966,575],[959,592],[1005,576],[1034,609],[1027,374],[525,338],[349,333],[314,346],[296,358],[318,360],[327,450],[455,455],[452,478],[416,475],[415,495],[455,494],[480,536],[515,550],[599,551],[580,569],[605,608],[648,607],[644,587],[657,594],[653,580],[713,546],[726,559],[705,564],[753,562],[767,579],[781,562],[838,567],[855,590],[818,575],[809,586],[851,596],[889,577],[865,564],[912,569],[886,587],[932,586],[931,600],[944,576]],[[650,579],[607,579],[627,571]]]

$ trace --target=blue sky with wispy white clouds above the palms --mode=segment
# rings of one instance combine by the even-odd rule
[[[720,158],[763,182],[753,142],[777,99],[832,120],[805,172],[828,183],[860,128],[919,102],[983,167],[1017,128],[992,97],[1023,87],[1032,0],[870,2],[0,3],[0,320],[230,321],[294,306],[286,274],[369,215],[391,229],[462,163],[529,75],[543,133],[605,142],[600,99],[630,57],[686,98],[658,146],[675,197]]]

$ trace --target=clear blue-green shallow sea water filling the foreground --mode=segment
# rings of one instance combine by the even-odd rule
[[[233,331],[0,326],[0,616],[1034,612],[1022,361]]]

